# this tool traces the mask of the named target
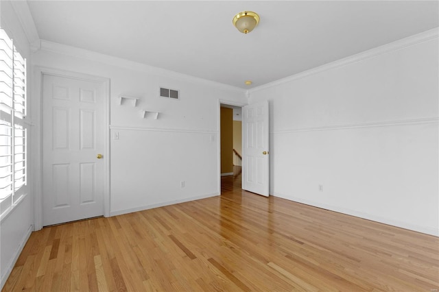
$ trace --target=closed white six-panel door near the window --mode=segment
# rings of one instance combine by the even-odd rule
[[[97,82],[43,75],[43,226],[104,214],[103,93]]]

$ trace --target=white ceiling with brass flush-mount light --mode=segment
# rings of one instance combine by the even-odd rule
[[[41,39],[241,88],[438,27],[438,3],[28,1]],[[261,16],[247,35],[232,24],[244,10]]]

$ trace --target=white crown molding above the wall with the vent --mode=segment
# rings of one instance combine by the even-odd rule
[[[211,80],[206,80],[200,77],[195,77],[183,73],[178,73],[175,71],[170,71],[167,69],[162,69],[155,66],[150,66],[147,64],[143,64],[140,62],[134,62],[130,60],[126,60],[123,58],[117,58],[109,55],[105,55],[103,53],[97,53],[95,51],[88,51],[86,49],[80,49],[77,47],[71,47],[69,45],[62,45],[58,42],[51,42],[49,40],[40,40],[40,50],[42,51],[50,51],[52,53],[60,53],[63,55],[71,56],[74,58],[81,58],[85,60],[91,60],[94,62],[101,62],[104,64],[117,66],[119,68],[140,71],[143,73],[148,73],[151,75],[158,75],[163,77],[171,77],[178,80],[186,80],[187,82],[196,82],[198,84],[206,84],[209,86],[215,86],[217,88],[222,88],[224,90],[233,90],[235,92],[242,93],[243,95],[246,93],[244,88],[239,88],[236,86],[231,86],[228,84],[222,84],[219,82],[214,82]]]

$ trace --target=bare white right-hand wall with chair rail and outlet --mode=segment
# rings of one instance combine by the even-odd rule
[[[270,101],[271,194],[439,235],[437,30],[416,40],[250,90]]]

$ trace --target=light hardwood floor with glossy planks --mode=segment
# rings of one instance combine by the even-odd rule
[[[439,239],[241,191],[32,233],[3,291],[437,291]]]

